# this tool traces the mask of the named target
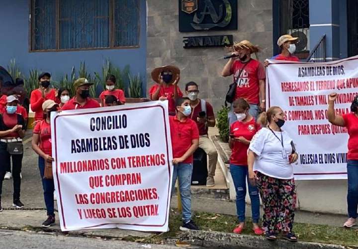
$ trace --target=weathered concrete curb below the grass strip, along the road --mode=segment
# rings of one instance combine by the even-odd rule
[[[343,246],[311,243],[268,241],[262,236],[238,235],[208,231],[186,231],[180,234],[180,241],[205,248],[242,248],[242,249],[345,249]]]

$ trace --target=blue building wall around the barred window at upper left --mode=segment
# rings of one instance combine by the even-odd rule
[[[78,70],[85,61],[88,71],[100,72],[103,61],[109,58],[117,67],[130,65],[132,74],[140,73],[146,93],[147,10],[146,0],[140,2],[140,47],[133,49],[101,49],[64,52],[29,52],[29,1],[0,1],[0,65],[16,59],[20,69],[28,75],[30,69],[48,71],[59,80],[70,74],[72,66]]]

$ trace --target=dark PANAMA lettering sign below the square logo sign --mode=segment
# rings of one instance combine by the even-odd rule
[[[184,48],[192,47],[223,47],[233,44],[232,35],[207,35],[183,37]]]

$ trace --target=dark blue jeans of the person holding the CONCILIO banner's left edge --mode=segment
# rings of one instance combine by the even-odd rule
[[[44,200],[47,209],[47,215],[55,215],[54,213],[54,198],[53,194],[55,191],[55,184],[53,179],[44,179],[44,172],[45,172],[45,159],[39,156],[39,169],[40,175],[42,180],[42,188],[44,190]]]

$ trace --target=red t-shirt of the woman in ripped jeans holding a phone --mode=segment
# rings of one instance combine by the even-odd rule
[[[256,132],[261,128],[260,124],[256,124],[255,119],[247,123],[236,121],[230,126],[230,134],[234,134],[235,137],[243,136],[249,141],[253,138]],[[247,165],[247,150],[249,144],[244,144],[239,141],[234,141],[231,148],[230,163],[235,165]]]

